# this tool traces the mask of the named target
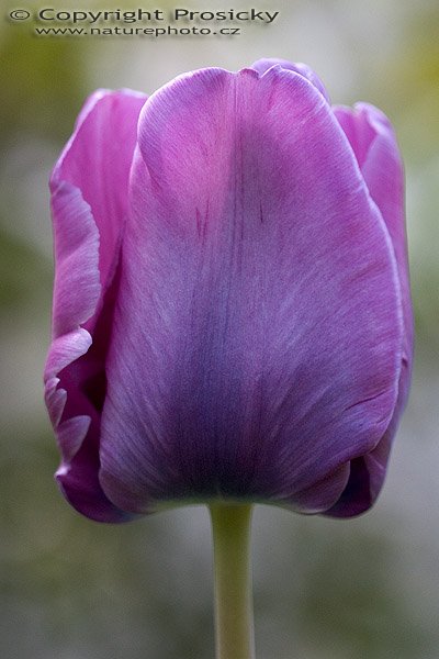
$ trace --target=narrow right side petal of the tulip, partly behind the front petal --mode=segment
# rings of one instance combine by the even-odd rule
[[[413,361],[413,311],[404,216],[404,171],[392,125],[380,110],[365,103],[358,103],[353,110],[335,108],[334,112],[350,142],[370,194],[379,206],[391,236],[402,290],[404,320],[402,370],[394,414],[376,448],[352,466],[346,492],[329,511],[334,516],[345,516],[370,507],[384,481],[392,440],[408,395]]]

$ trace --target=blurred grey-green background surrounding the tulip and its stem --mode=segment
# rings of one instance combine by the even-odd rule
[[[121,9],[142,2],[119,3]],[[168,9],[166,0],[157,3]],[[188,2],[247,9],[234,0]],[[49,340],[47,178],[97,87],[153,92],[184,70],[262,56],[309,64],[334,102],[392,119],[406,163],[417,343],[413,391],[376,506],[350,522],[258,507],[258,659],[439,657],[439,4],[278,0],[271,26],[227,37],[35,37],[0,18],[0,656],[213,657],[204,509],[126,526],[81,518],[53,481],[58,455],[42,403]],[[43,7],[42,4],[41,7]],[[134,7],[135,5],[135,7]],[[230,7],[229,7],[230,5]],[[21,2],[21,7],[38,5]],[[79,9],[53,0],[49,7]],[[184,7],[184,3],[183,3]],[[88,1],[81,9],[114,9]],[[156,5],[154,5],[156,8]],[[154,9],[149,7],[149,9]]]

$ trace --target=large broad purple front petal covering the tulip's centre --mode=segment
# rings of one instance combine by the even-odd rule
[[[389,233],[322,94],[273,67],[146,103],[108,357],[101,483],[124,510],[329,509],[391,421]]]

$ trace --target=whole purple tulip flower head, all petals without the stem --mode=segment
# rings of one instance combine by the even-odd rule
[[[264,502],[357,515],[410,376],[403,169],[304,65],[98,91],[50,180],[46,402],[100,522]]]

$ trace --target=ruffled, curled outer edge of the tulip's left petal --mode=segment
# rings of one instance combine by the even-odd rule
[[[85,482],[77,474],[71,479],[70,474],[70,465],[81,450],[92,418],[88,414],[63,417],[68,394],[59,386],[60,375],[86,355],[92,343],[90,333],[81,325],[93,315],[101,292],[99,234],[89,205],[70,183],[64,181],[57,186],[52,203],[57,268],[54,339],[46,360],[44,381],[45,402],[63,456],[56,479],[66,499],[80,513],[100,522],[124,522],[128,516],[103,494],[98,470],[93,472],[89,469]]]

